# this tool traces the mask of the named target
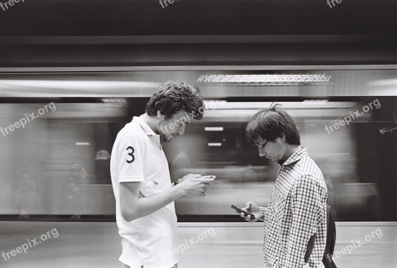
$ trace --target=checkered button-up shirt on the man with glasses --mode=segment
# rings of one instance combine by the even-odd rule
[[[267,207],[263,268],[324,268],[327,240],[327,186],[320,168],[305,147],[293,153],[280,170]],[[310,237],[313,253],[305,264]]]

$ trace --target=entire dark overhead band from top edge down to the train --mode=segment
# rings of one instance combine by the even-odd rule
[[[0,67],[397,63],[397,0],[333,1],[20,0]]]

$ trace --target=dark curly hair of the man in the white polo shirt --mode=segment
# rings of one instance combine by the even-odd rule
[[[160,111],[166,119],[184,109],[200,120],[204,115],[204,103],[198,94],[199,89],[180,81],[167,81],[153,94],[146,105],[149,116]]]

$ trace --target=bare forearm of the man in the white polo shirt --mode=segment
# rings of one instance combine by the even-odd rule
[[[183,188],[180,185],[176,185],[163,193],[137,199],[132,205],[126,207],[123,217],[126,221],[144,217],[183,196]]]

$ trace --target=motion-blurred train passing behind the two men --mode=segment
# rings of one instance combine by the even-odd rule
[[[164,144],[171,178],[217,177],[205,198],[175,202],[181,243],[208,228],[215,234],[180,254],[180,267],[262,266],[263,225],[242,221],[230,205],[269,201],[279,166],[259,156],[245,127],[273,101],[294,118],[326,178],[336,265],[396,267],[396,77],[397,68],[381,66],[0,73],[0,252],[54,228],[59,233],[0,257],[1,267],[122,267],[112,145],[170,79],[196,84],[206,106],[202,120]],[[365,243],[346,251],[360,239]]]

